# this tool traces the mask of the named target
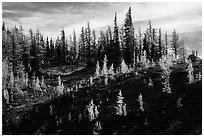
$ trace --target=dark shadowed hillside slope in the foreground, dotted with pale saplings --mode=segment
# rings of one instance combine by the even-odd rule
[[[185,64],[179,66],[184,67]],[[3,134],[93,134],[96,121],[101,123],[98,134],[105,135],[202,134],[202,81],[188,84],[187,73],[179,66],[174,66],[171,74],[171,94],[162,92],[159,68],[139,71],[137,75],[121,74],[115,80],[109,80],[108,85],[99,79],[94,79],[93,85],[90,85],[87,80],[88,83],[82,84],[77,91],[73,89],[47,101],[3,111]],[[73,85],[73,82],[78,83],[81,78],[89,78],[93,73],[93,68],[85,68],[63,76],[62,81],[65,86]],[[152,79],[152,87],[147,85],[149,78]],[[46,82],[54,79],[56,77],[46,77]],[[55,82],[57,85],[57,81],[52,83]],[[115,114],[119,89],[127,106],[126,116]],[[144,112],[139,109],[140,93]],[[91,99],[99,112],[92,121],[87,119],[85,113]]]

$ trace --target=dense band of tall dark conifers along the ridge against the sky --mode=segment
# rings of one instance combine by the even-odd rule
[[[23,27],[7,28],[2,25],[2,55],[8,61],[14,76],[17,75],[19,64],[23,64],[24,71],[31,77],[38,75],[43,67],[51,64],[79,64],[95,66],[99,62],[103,66],[103,59],[107,56],[107,66],[113,64],[116,71],[124,59],[129,67],[134,67],[142,56],[150,62],[159,61],[162,56],[167,56],[171,51],[175,58],[185,56],[184,41],[174,30],[172,38],[162,34],[161,28],[152,27],[149,21],[148,28],[142,33],[139,28],[135,33],[132,21],[131,7],[125,16],[124,25],[119,28],[117,14],[115,13],[113,30],[108,26],[106,31],[96,35],[88,22],[81,28],[79,37],[76,32],[66,36],[62,28],[60,36],[54,41],[44,37],[37,29],[24,33]]]

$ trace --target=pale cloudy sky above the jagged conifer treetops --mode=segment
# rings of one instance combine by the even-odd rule
[[[89,21],[92,29],[105,30],[113,26],[117,13],[122,26],[128,7],[137,33],[144,31],[148,20],[152,26],[171,34],[176,29],[187,48],[197,49],[202,55],[202,3],[199,2],[3,2],[2,18],[7,27],[21,24],[27,33],[29,28],[39,29],[44,36],[56,39],[63,27],[66,35],[79,35],[82,26]]]

